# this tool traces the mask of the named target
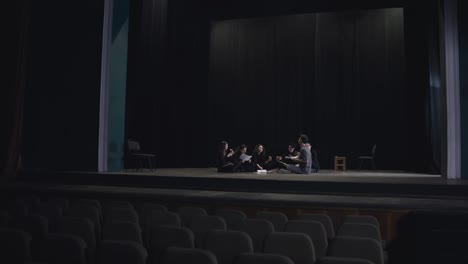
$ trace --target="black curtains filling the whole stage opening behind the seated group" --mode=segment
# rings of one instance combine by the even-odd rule
[[[426,11],[227,9],[132,1],[126,136],[160,166],[212,166],[220,140],[277,154],[307,133],[322,168],[377,144],[379,169],[429,172]]]

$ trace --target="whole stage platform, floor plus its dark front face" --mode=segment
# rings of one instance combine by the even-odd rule
[[[309,175],[218,173],[216,168],[123,172],[23,172],[6,190],[105,194],[210,204],[468,209],[468,181],[398,171],[323,170]]]

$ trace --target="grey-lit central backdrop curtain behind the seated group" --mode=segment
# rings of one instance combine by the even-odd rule
[[[307,133],[324,167],[378,145],[379,168],[408,169],[403,9],[213,24],[211,138],[273,151]],[[420,128],[416,128],[420,130]]]

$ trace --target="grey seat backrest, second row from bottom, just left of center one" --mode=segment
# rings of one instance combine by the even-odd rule
[[[187,227],[161,225],[153,228],[149,243],[151,263],[157,262],[169,247],[194,248],[195,236]]]

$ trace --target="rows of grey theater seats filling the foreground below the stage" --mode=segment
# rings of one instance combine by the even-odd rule
[[[137,211],[128,201],[103,206],[92,199],[36,198],[20,197],[0,207],[0,262],[385,262],[380,226],[372,216],[347,216],[335,235],[326,214],[289,220],[280,212],[258,212],[247,218],[240,210],[208,215],[199,207],[171,212],[145,203]]]

